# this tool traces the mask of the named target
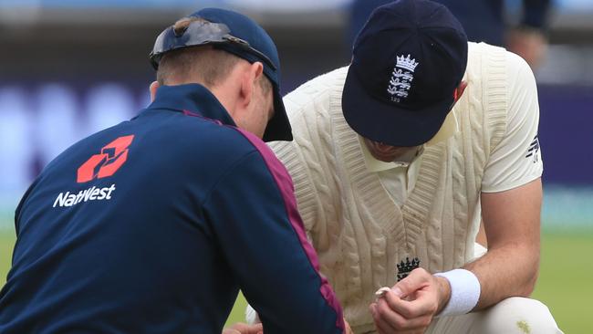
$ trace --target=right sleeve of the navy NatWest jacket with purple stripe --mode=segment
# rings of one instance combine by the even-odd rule
[[[341,333],[342,311],[319,274],[290,176],[256,146],[215,185],[204,214],[265,333]]]

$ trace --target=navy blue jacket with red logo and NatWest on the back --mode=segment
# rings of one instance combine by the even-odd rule
[[[218,334],[239,288],[266,334],[342,332],[286,169],[200,85],[50,162],[16,235],[3,334]]]

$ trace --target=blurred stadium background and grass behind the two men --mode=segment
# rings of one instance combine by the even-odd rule
[[[16,240],[13,213],[20,196],[70,144],[130,119],[149,103],[154,72],[148,54],[166,26],[204,6],[251,16],[276,41],[286,93],[347,65],[351,42],[371,4],[384,2],[0,0],[0,286]],[[532,65],[545,162],[542,269],[535,297],[546,302],[567,333],[588,332],[593,328],[588,314],[593,297],[593,1],[442,2],[456,10],[476,41],[518,45],[519,50],[514,32],[544,37],[544,43],[523,44],[525,57],[537,54]],[[500,34],[493,37],[493,32]],[[239,313],[231,320],[241,319]]]

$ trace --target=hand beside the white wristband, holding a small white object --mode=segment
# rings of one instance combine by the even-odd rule
[[[380,334],[423,333],[451,296],[446,278],[418,268],[370,304]]]

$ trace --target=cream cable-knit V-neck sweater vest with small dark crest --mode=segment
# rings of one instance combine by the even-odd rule
[[[469,85],[453,112],[459,132],[427,147],[414,189],[400,208],[366,168],[356,132],[344,120],[348,68],[317,77],[285,98],[295,141],[271,147],[296,188],[298,209],[356,332],[374,328],[369,304],[396,283],[406,257],[430,272],[473,258],[480,187],[489,154],[505,134],[505,50],[470,43]]]

